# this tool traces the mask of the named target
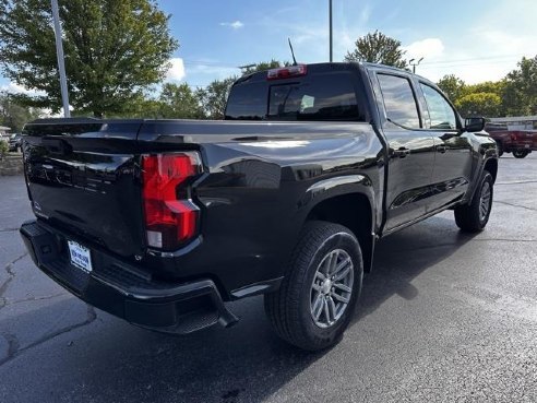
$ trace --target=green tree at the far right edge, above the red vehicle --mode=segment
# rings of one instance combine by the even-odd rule
[[[518,69],[508,74],[503,106],[510,116],[537,115],[537,56],[522,58]]]

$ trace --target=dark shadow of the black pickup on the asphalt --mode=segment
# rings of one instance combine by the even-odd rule
[[[327,352],[309,354],[279,341],[264,318],[261,297],[230,304],[242,319],[231,329],[213,327],[178,337],[141,330],[97,311],[96,319],[15,354],[0,366],[4,382],[0,394],[13,401],[309,401],[308,381],[301,374],[306,369],[314,372],[318,366],[333,367],[331,359],[358,354],[345,344],[353,345],[348,337],[359,332],[359,319],[372,315],[393,295],[415,298],[419,289],[411,285],[413,278],[449,259],[470,239],[457,230],[453,220],[437,216],[379,244],[351,332]],[[39,322],[38,318],[60,315],[72,304],[81,303],[64,299],[17,320]],[[366,369],[358,364],[356,371]],[[35,371],[39,379],[27,388],[29,380],[24,375]],[[320,380],[321,376],[312,377]],[[291,380],[303,388],[287,390]]]

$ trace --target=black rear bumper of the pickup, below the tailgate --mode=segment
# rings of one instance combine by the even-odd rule
[[[86,273],[71,264],[61,232],[33,221],[22,225],[21,236],[44,273],[87,304],[133,324],[184,334],[237,322],[212,280],[156,281],[98,250],[92,250],[93,271]]]

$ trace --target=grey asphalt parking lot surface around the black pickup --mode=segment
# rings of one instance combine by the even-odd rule
[[[0,177],[0,402],[537,402],[537,153],[494,191],[481,234],[444,212],[383,240],[345,339],[307,354],[260,297],[181,337],[87,307],[33,265],[23,178]]]

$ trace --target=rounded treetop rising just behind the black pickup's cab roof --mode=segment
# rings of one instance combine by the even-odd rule
[[[408,66],[403,59],[405,50],[401,48],[401,42],[379,31],[358,38],[355,46],[354,51],[347,51],[345,61],[369,61],[399,69],[406,69]]]

